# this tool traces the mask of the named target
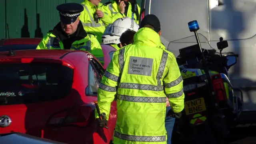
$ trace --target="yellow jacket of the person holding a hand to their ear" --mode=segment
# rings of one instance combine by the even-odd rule
[[[140,15],[140,6],[136,4],[138,8],[138,14]],[[124,18],[128,16],[133,19],[137,24],[139,24],[139,16],[137,17],[134,12],[132,12],[132,4],[129,2],[129,7],[127,11],[127,15],[122,14],[118,8],[118,4],[115,1],[107,2],[102,6],[105,12],[107,12],[112,17],[112,23],[118,18]]]

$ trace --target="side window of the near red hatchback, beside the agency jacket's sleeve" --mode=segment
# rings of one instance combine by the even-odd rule
[[[88,87],[86,88],[86,96],[97,96],[100,80],[104,75],[104,71],[104,68],[97,60],[90,60],[88,68]]]

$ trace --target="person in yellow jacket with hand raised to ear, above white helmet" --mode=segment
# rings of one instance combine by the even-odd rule
[[[112,17],[112,22],[118,18],[128,16],[139,24],[140,6],[136,0],[113,0],[103,5],[106,12]]]

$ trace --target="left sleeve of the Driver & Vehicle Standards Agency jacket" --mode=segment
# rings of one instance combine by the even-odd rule
[[[100,86],[98,89],[98,105],[100,108],[100,112],[106,113],[106,120],[109,118],[110,114],[110,106],[112,101],[115,98],[117,92],[117,86],[119,84],[119,64],[118,64],[118,55],[119,51],[116,51],[113,54],[113,58],[108,65],[107,70],[102,77],[100,82]],[[95,110],[95,117],[98,118],[97,110]]]

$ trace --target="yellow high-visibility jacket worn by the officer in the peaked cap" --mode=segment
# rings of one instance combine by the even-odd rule
[[[40,49],[60,49],[63,50],[63,43],[60,41],[59,44],[54,44],[54,39],[56,36],[52,32],[48,32],[41,42],[36,47],[37,50]],[[92,34],[87,34],[87,36],[81,40],[76,40],[73,42],[70,50],[84,50],[93,54],[102,65],[104,65],[104,55],[100,46],[100,43],[96,37]]]

